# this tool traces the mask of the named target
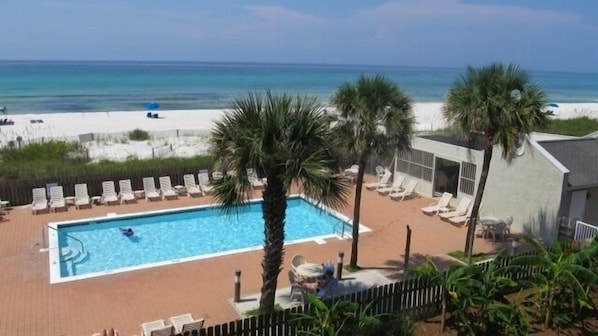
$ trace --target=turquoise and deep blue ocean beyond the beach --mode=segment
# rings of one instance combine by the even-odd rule
[[[0,61],[9,114],[219,109],[249,91],[315,95],[327,104],[344,82],[381,74],[416,102],[442,102],[465,69],[205,62]],[[552,102],[598,102],[598,74],[530,71]]]

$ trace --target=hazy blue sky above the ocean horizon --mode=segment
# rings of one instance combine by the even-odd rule
[[[2,0],[0,59],[598,73],[596,0]]]

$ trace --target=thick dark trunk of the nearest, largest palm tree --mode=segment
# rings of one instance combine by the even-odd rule
[[[278,275],[284,255],[284,224],[287,209],[286,188],[277,175],[268,176],[268,185],[262,193],[264,202],[264,259],[262,260],[262,296],[260,313],[274,312]]]

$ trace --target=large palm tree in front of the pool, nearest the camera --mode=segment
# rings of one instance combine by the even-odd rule
[[[232,104],[232,111],[212,131],[215,157],[236,172],[214,188],[225,211],[251,196],[247,168],[267,178],[262,192],[264,258],[260,313],[274,310],[278,274],[284,255],[287,192],[298,183],[301,192],[324,205],[346,204],[349,186],[330,170],[334,155],[330,130],[317,98],[250,93]]]

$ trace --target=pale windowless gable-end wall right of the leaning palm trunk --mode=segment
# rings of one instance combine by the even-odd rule
[[[511,230],[553,241],[562,216],[569,171],[530,141],[508,161],[496,146],[482,200],[482,216],[513,216]]]

